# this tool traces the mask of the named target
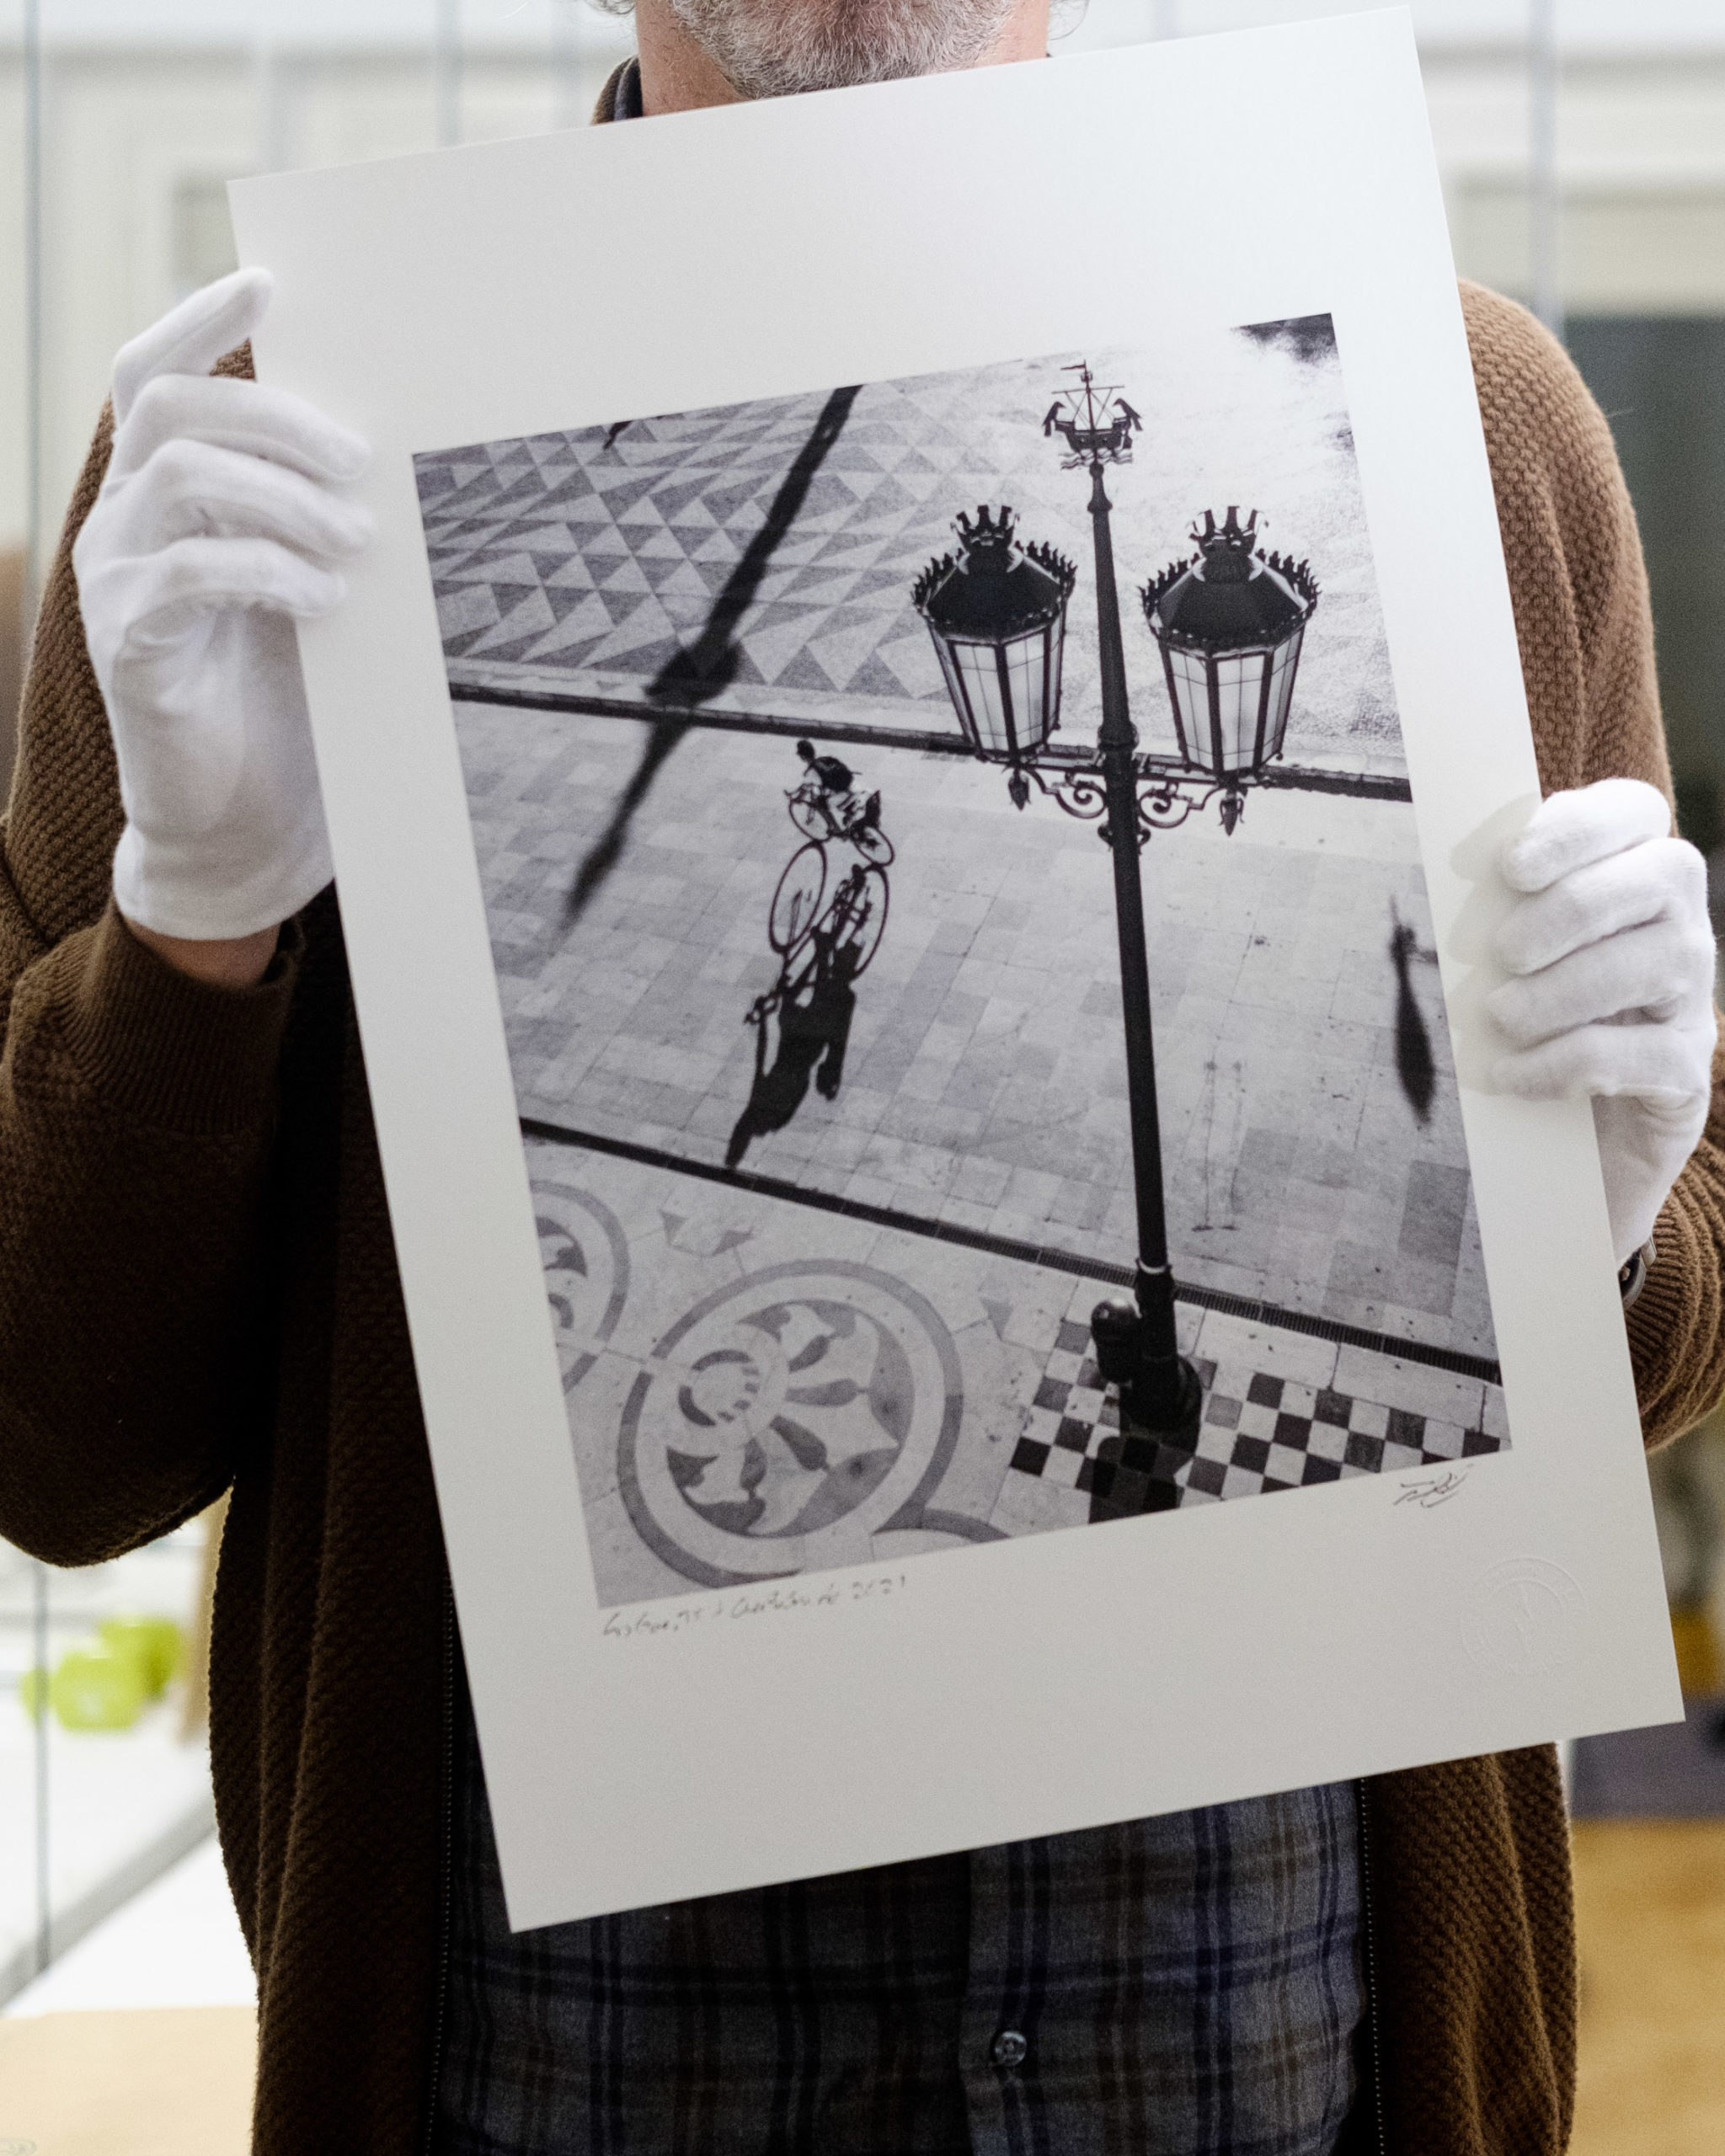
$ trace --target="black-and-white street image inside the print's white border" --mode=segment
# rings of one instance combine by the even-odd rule
[[[1328,315],[414,461],[602,1606],[1507,1447]]]

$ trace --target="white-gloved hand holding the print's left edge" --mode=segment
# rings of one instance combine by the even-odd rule
[[[332,489],[369,448],[282,390],[216,379],[263,270],[194,293],[114,360],[114,457],[73,545],[119,757],[121,912],[242,938],[330,882],[293,619],[328,614],[371,517]]]

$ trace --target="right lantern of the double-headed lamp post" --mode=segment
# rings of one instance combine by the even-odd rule
[[[1179,757],[1231,789],[1223,821],[1233,830],[1233,789],[1281,755],[1317,584],[1307,563],[1255,550],[1255,509],[1244,526],[1236,509],[1220,526],[1205,509],[1192,539],[1192,561],[1145,584],[1145,619],[1162,647]]]

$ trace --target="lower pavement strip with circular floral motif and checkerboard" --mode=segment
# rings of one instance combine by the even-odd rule
[[[1423,1470],[1503,1395],[1182,1309],[1197,1445],[1121,1436],[1098,1283],[757,1192],[528,1147],[604,1606]]]

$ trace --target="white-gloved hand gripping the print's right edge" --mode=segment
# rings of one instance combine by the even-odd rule
[[[1708,1121],[1714,940],[1708,869],[1639,778],[1552,793],[1505,849],[1522,890],[1496,934],[1512,979],[1486,998],[1514,1052],[1503,1093],[1593,1100],[1617,1263],[1654,1220]]]

